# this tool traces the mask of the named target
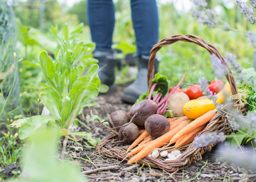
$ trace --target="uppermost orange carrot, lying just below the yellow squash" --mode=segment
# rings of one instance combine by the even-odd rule
[[[195,130],[196,128],[208,123],[211,118],[216,114],[214,110],[210,110],[203,114],[202,116],[196,118],[191,123],[189,123],[186,127],[182,128],[179,132],[177,132],[176,135],[173,136],[173,138],[170,140],[171,145],[172,143],[175,143],[179,138],[183,137],[184,135],[188,134],[189,132]]]

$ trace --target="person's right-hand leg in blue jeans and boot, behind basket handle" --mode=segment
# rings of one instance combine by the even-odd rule
[[[147,71],[150,51],[158,43],[158,10],[156,0],[131,0],[132,21],[136,35],[139,72],[137,79],[124,90],[122,100],[134,103],[140,95],[146,94]],[[155,60],[155,73],[158,60]]]

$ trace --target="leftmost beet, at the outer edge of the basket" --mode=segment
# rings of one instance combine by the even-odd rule
[[[125,123],[129,123],[130,121],[129,114],[123,110],[111,112],[109,116],[110,118],[108,118],[108,123],[111,128],[123,126]],[[120,128],[115,128],[116,131],[119,131],[119,129]]]

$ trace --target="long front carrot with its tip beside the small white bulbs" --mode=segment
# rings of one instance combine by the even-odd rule
[[[187,120],[182,121],[176,128],[173,128],[172,130],[168,131],[166,134],[162,135],[161,137],[147,143],[144,147],[144,149],[142,149],[138,154],[136,154],[134,157],[132,157],[127,164],[131,164],[134,163],[135,161],[139,161],[140,159],[146,157],[148,154],[151,153],[151,151],[154,150],[154,148],[159,148],[162,147],[163,145],[165,145],[166,143],[168,143],[170,141],[170,139],[178,132],[180,131],[182,128],[184,128],[185,126],[187,126],[189,124],[189,122]]]

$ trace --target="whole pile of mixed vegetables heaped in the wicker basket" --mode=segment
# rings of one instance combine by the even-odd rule
[[[130,145],[126,152],[131,157],[128,164],[144,157],[157,158],[158,150],[166,161],[178,159],[181,152],[174,149],[191,143],[216,114],[216,106],[204,97],[199,85],[191,85],[187,91],[179,88],[185,75],[186,72],[177,86],[170,88],[166,77],[156,74],[151,90],[139,97],[129,114],[110,114],[110,129],[118,131],[119,142]],[[218,95],[217,103],[222,104],[231,94],[228,82],[213,80],[207,87]]]

